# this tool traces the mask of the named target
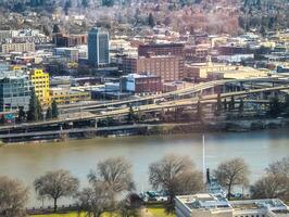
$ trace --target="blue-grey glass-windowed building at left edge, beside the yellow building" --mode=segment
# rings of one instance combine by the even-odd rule
[[[22,71],[0,73],[0,112],[28,110],[32,84]]]

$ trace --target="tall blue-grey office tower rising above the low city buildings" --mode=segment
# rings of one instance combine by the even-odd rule
[[[109,34],[100,28],[92,28],[88,34],[88,62],[91,65],[106,65],[110,63]]]

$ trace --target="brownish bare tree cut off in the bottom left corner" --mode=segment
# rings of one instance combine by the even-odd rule
[[[0,176],[0,216],[24,217],[28,201],[28,189],[20,181]]]

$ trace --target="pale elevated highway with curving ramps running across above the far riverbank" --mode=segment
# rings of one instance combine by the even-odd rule
[[[215,102],[217,99],[217,94],[208,94],[208,95],[198,95],[194,94],[194,97],[191,98],[177,98],[176,95],[192,95],[193,93],[198,93],[199,91],[206,90],[210,88],[214,88],[221,85],[226,84],[236,84],[236,82],[280,82],[280,84],[288,84],[288,80],[279,80],[279,79],[272,79],[272,78],[254,78],[254,79],[229,79],[229,80],[215,80],[210,81],[205,84],[200,84],[191,88],[163,93],[160,95],[152,95],[152,97],[146,97],[140,98],[137,100],[127,100],[127,101],[118,101],[118,102],[112,102],[101,104],[101,105],[88,105],[85,108],[91,113],[88,113],[87,115],[77,115],[75,117],[68,117],[68,118],[60,118],[54,120],[46,120],[46,122],[38,122],[38,123],[25,123],[25,124],[16,124],[16,125],[10,125],[10,126],[1,126],[0,131],[8,131],[8,130],[15,130],[15,129],[28,129],[28,128],[37,128],[42,126],[62,126],[63,124],[70,124],[75,122],[95,122],[96,126],[99,120],[106,119],[106,118],[120,118],[127,116],[129,113],[129,107],[117,107],[120,105],[124,104],[130,104],[133,102],[142,102],[148,100],[154,100],[154,99],[162,99],[162,98],[172,98],[173,99],[165,101],[165,102],[150,102],[148,104],[135,106],[135,112],[140,112],[142,114],[150,113],[150,112],[156,112],[156,111],[163,111],[163,110],[169,110],[169,108],[176,108],[176,107],[187,107],[187,106],[196,106],[198,101],[201,103],[212,103]],[[231,97],[246,97],[250,94],[255,94],[260,92],[272,92],[272,91],[281,91],[281,90],[289,90],[289,85],[281,85],[281,86],[274,86],[274,87],[266,87],[266,88],[260,88],[260,89],[251,89],[251,90],[241,90],[241,91],[235,91],[235,92],[227,92],[227,93],[221,93],[219,97],[222,99],[225,98],[231,98]],[[262,100],[261,100],[262,101]],[[260,102],[261,102],[260,101]],[[255,100],[257,103],[259,101]],[[264,101],[263,101],[264,102]],[[106,111],[105,107],[114,105],[112,111]],[[100,113],[98,108],[102,108],[102,112]],[[93,114],[95,113],[95,114]],[[26,132],[27,133],[27,132]]]

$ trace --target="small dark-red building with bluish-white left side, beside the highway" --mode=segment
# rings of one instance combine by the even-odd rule
[[[151,74],[129,74],[121,78],[121,90],[139,95],[161,93],[162,80]]]

